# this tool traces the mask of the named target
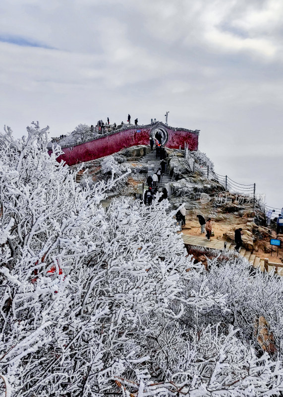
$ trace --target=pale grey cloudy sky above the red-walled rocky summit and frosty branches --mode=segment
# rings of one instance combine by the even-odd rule
[[[1,130],[170,111],[218,173],[282,207],[282,20],[282,0],[1,0]]]

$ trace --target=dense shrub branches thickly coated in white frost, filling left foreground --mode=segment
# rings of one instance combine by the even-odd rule
[[[105,212],[113,178],[81,187],[48,128],[27,131],[0,134],[0,396],[279,396],[281,362],[228,324],[167,200]]]

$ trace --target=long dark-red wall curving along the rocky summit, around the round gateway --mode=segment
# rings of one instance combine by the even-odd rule
[[[154,135],[157,129],[164,132],[166,136],[164,144],[166,147],[178,149],[181,146],[181,149],[184,149],[186,142],[190,150],[198,149],[198,131],[175,130],[172,127],[165,126],[163,123],[159,123],[146,127],[124,129],[76,146],[63,147],[64,154],[59,156],[57,161],[63,160],[68,165],[74,165],[109,156],[127,147],[148,145],[150,135]]]

